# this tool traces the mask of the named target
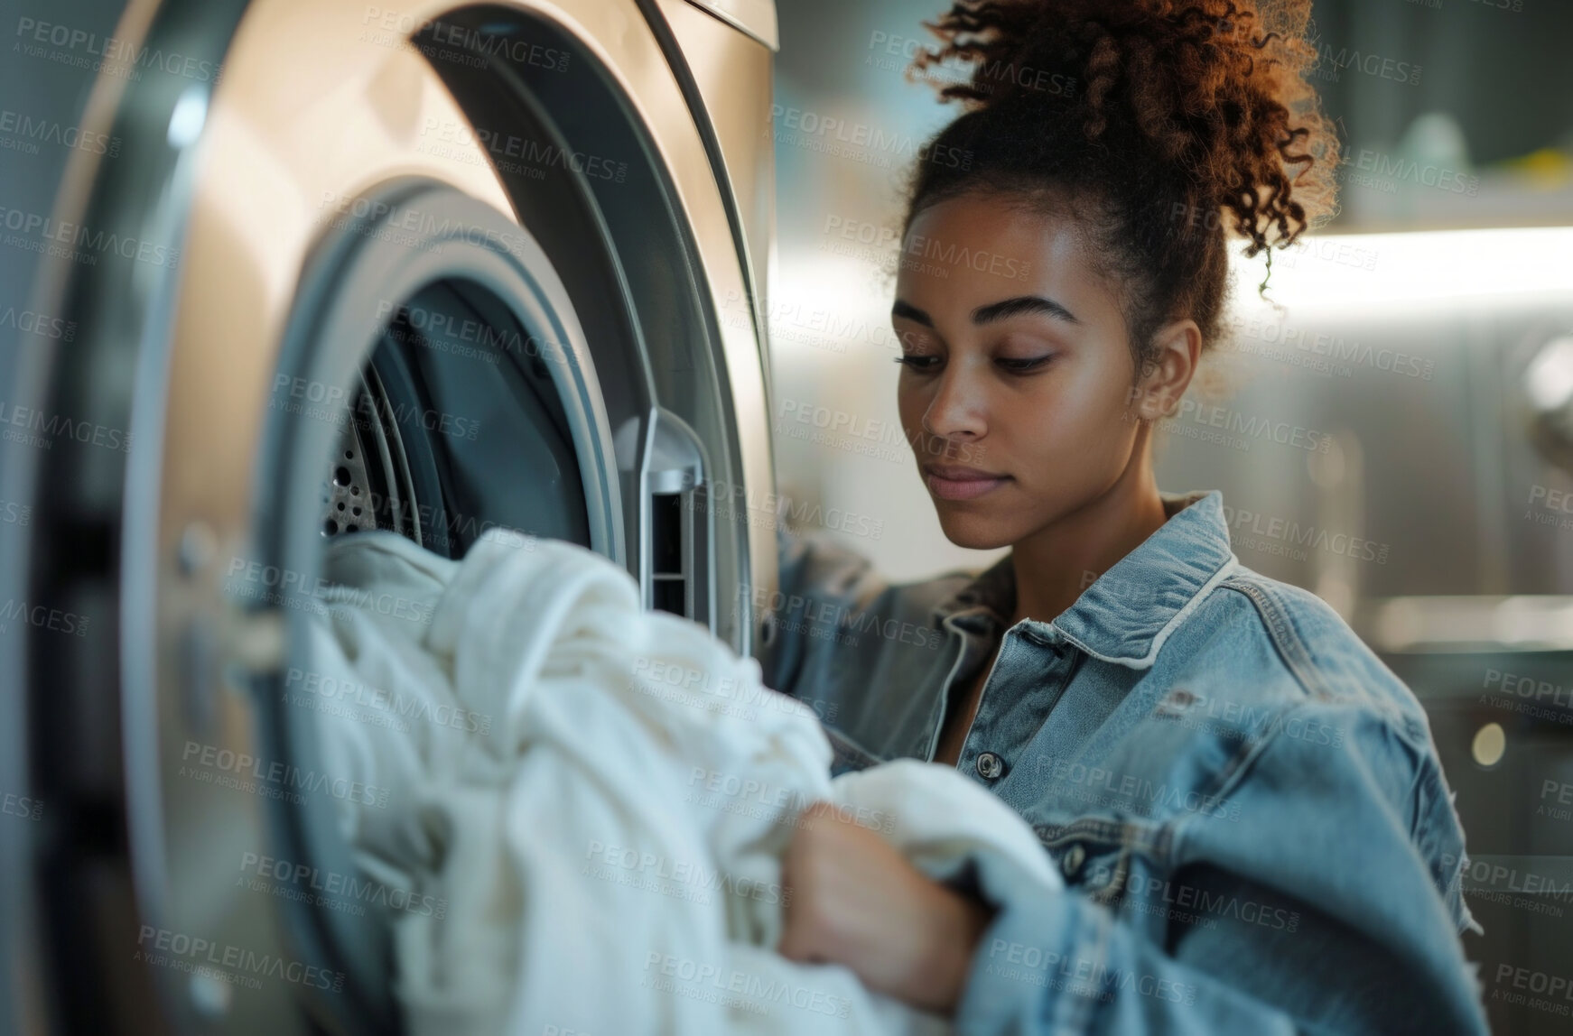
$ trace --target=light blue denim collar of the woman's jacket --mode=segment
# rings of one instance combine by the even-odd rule
[[[1216,489],[1159,492],[1170,514],[1151,536],[1100,575],[1054,621],[1019,627],[1049,643],[1070,641],[1104,662],[1148,668],[1169,635],[1238,564],[1229,546],[1224,495]],[[933,610],[936,623],[989,637],[1016,610],[1011,555]]]

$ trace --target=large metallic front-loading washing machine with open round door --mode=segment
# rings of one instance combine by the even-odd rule
[[[772,0],[134,0],[41,46],[116,146],[35,234],[71,341],[6,357],[3,1025],[400,1031],[414,907],[346,891],[363,789],[293,693],[324,547],[519,528],[763,649]]]

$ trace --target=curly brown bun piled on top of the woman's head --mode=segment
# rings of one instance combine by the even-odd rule
[[[941,46],[909,75],[969,61],[964,82],[936,77],[941,99],[1181,171],[1252,256],[1337,211],[1339,141],[1306,82],[1309,19],[1310,0],[956,0],[923,24]]]

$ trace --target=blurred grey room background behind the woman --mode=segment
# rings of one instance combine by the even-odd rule
[[[775,64],[783,519],[898,582],[1005,553],[945,541],[895,404],[903,189],[960,113],[904,75],[939,9],[794,0]],[[1313,19],[1342,212],[1276,253],[1280,308],[1255,296],[1263,258],[1235,258],[1232,335],[1158,434],[1159,487],[1221,489],[1240,560],[1320,594],[1422,698],[1493,1028],[1568,1031],[1512,1000],[1573,972],[1573,3]],[[1279,445],[1279,423],[1331,448]]]

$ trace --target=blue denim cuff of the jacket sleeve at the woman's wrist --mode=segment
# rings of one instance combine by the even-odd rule
[[[1085,1031],[1114,918],[1074,893],[1044,890],[1005,858],[977,858],[974,879],[997,913],[972,954],[956,1031]]]

